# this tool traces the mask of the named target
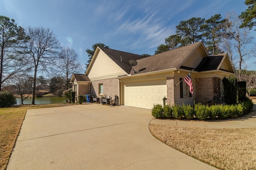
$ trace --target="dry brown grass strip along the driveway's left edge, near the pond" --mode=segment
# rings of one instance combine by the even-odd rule
[[[60,104],[49,105],[24,105],[9,108],[0,108],[0,170],[7,167],[10,154],[20,132],[27,109],[42,107],[63,106]]]

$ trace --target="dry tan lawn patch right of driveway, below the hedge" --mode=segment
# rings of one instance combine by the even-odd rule
[[[210,129],[150,124],[160,141],[220,169],[256,169],[256,127]]]

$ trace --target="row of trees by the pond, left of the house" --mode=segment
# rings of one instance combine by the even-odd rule
[[[0,16],[0,47],[0,91],[3,85],[16,85],[19,91],[32,92],[32,104],[38,74],[62,77],[67,90],[72,73],[83,69],[74,49],[61,47],[50,28],[24,29],[6,16]]]

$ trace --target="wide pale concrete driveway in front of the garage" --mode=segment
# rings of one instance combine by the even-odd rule
[[[215,169],[158,141],[152,119],[127,106],[29,109],[7,169]]]

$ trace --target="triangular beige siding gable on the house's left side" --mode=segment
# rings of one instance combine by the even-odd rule
[[[107,78],[116,78],[118,75],[126,74],[112,59],[100,50],[93,66],[88,74],[91,81]]]

